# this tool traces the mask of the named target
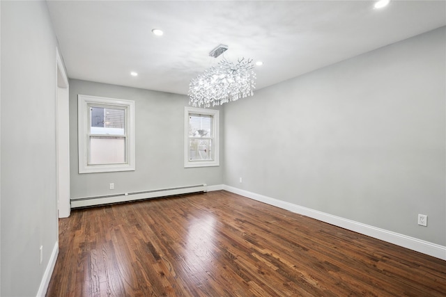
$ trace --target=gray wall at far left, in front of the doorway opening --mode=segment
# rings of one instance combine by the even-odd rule
[[[36,296],[58,236],[56,39],[45,1],[0,5],[0,295]]]

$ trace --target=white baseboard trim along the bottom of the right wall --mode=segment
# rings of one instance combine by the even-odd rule
[[[351,230],[367,236],[371,236],[376,239],[386,241],[388,243],[396,244],[397,246],[402,246],[403,248],[408,248],[410,250],[415,250],[417,252],[422,252],[423,254],[430,255],[432,257],[446,260],[446,246],[440,246],[436,243],[431,243],[429,241],[423,241],[421,239],[416,239],[414,237],[406,236],[388,230],[383,230],[371,225],[355,222],[354,220],[348,220],[346,218],[341,218],[339,216],[333,216],[331,214],[326,214],[322,211],[309,209],[307,207],[301,207],[297,204],[252,193],[249,191],[242,190],[240,188],[235,188],[233,186],[224,185],[223,189],[231,193],[236,193],[238,195],[251,198],[253,200],[257,200],[260,202],[264,202],[266,204],[273,205],[275,207],[280,207],[282,209],[292,211],[296,214],[302,214],[303,216],[315,218],[316,220],[321,220],[331,225],[342,227],[344,229]]]

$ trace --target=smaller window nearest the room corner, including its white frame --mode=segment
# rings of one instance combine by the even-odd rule
[[[185,167],[219,166],[219,111],[185,107]]]

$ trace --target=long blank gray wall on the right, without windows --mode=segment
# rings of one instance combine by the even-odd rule
[[[224,184],[446,246],[445,73],[443,27],[227,104]]]

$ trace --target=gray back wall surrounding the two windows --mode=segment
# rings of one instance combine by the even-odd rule
[[[77,95],[134,100],[136,170],[78,173]],[[83,198],[196,184],[222,184],[222,166],[184,168],[184,107],[188,97],[70,80],[70,197]],[[222,117],[220,117],[222,118]],[[222,133],[222,120],[220,120]],[[224,143],[220,138],[220,147]],[[221,154],[222,155],[222,154]],[[220,157],[220,164],[223,162]],[[109,184],[114,183],[114,190]]]

